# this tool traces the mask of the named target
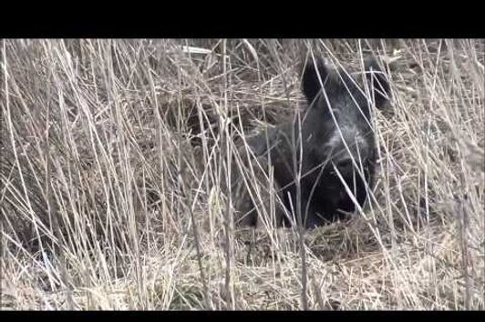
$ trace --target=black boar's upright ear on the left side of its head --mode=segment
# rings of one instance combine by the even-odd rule
[[[315,59],[315,62],[312,58],[307,60],[306,64],[304,65],[302,86],[304,96],[306,97],[308,104],[312,104],[315,97],[322,90],[322,84],[325,84],[325,79],[328,76],[328,73],[328,67],[325,65],[323,60]],[[322,80],[321,83],[318,79],[318,75],[320,75],[320,79]]]

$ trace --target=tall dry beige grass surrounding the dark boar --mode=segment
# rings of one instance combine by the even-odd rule
[[[483,40],[1,46],[2,309],[485,307]],[[355,71],[372,48],[393,100],[375,198],[300,243],[234,227],[222,186],[310,46]]]

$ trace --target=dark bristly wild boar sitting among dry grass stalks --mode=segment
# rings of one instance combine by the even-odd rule
[[[310,60],[304,66],[307,104],[300,121],[269,128],[239,148],[253,176],[261,179],[272,173],[274,187],[253,189],[252,182],[242,179],[241,169],[234,168],[233,201],[240,224],[256,226],[258,205],[269,209],[272,194],[281,200],[274,203],[277,226],[298,222],[298,213],[304,227],[322,226],[354,212],[356,204],[364,205],[376,163],[371,108],[384,106],[389,96],[387,77],[373,57],[366,59],[365,70],[370,95],[352,76],[323,61]],[[295,176],[298,172],[301,175]]]

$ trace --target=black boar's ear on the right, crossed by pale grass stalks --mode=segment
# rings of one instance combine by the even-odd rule
[[[377,65],[376,58],[373,56],[366,58],[364,66],[366,69],[367,84],[370,86],[371,93],[374,95],[377,108],[381,108],[391,96],[387,75]]]

